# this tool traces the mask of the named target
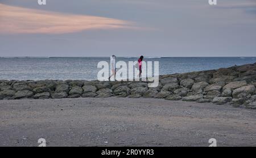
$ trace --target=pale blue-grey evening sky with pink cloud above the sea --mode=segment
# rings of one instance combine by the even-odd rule
[[[0,57],[255,57],[256,0],[0,0]]]

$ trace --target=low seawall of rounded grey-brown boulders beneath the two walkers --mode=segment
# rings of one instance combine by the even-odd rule
[[[256,109],[256,63],[159,76],[159,86],[147,82],[86,80],[0,80],[0,100],[76,97],[155,97],[166,100],[232,104]]]

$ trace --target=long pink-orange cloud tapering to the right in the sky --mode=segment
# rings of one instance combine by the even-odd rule
[[[0,4],[0,33],[72,33],[88,29],[133,28],[133,23],[100,16],[63,14]]]

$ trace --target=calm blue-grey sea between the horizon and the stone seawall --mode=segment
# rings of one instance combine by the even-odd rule
[[[100,61],[110,62],[110,57],[49,57],[0,58],[0,79],[7,80],[94,80]],[[137,61],[133,57],[117,57],[117,61]],[[162,57],[144,58],[159,61],[159,74],[212,70],[221,67],[255,63],[256,57]]]

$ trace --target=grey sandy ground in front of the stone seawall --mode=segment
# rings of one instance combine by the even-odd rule
[[[256,146],[256,110],[162,99],[0,101],[0,146]]]

